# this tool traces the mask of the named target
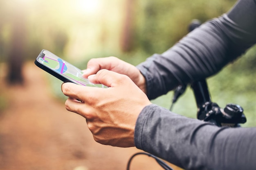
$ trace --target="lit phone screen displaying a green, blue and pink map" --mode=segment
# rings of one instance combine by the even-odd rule
[[[40,57],[38,61],[43,65],[47,66],[48,68],[54,70],[58,74],[61,74],[68,80],[79,85],[107,88],[107,86],[105,85],[93,84],[87,78],[83,78],[82,70],[76,68],[74,65],[68,63],[67,61],[64,61],[55,54],[47,50],[44,50],[43,53],[45,55],[43,57]]]

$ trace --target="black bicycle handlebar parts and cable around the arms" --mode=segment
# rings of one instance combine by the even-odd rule
[[[189,32],[200,26],[200,24],[200,21],[192,20],[191,24],[189,25]],[[187,86],[188,85],[180,85],[175,89],[170,111],[173,108],[173,104],[175,104],[178,98],[180,98],[180,96],[184,94]],[[197,119],[205,122],[211,122],[216,126],[230,127],[239,127],[240,124],[246,122],[243,108],[240,105],[229,103],[225,106],[224,109],[222,109],[218,106],[217,103],[211,101],[206,79],[192,82],[190,84],[190,87],[193,91],[196,105],[198,107]],[[173,170],[164,161],[149,153],[135,153],[134,155],[132,155],[132,157],[130,157],[128,161],[126,168],[127,170],[130,170],[130,163],[132,159],[137,155],[148,155],[149,157],[153,157],[157,161],[157,163],[159,163],[159,165],[162,166],[162,168],[164,168],[165,170]]]

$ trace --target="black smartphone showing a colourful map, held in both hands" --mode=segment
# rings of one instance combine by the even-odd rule
[[[82,70],[74,65],[56,56],[48,50],[42,50],[35,60],[35,64],[52,74],[63,82],[72,82],[78,85],[107,88],[102,84],[93,84],[87,78],[84,78]]]

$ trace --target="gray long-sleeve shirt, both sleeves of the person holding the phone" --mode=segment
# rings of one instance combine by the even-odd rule
[[[256,0],[239,0],[226,14],[137,66],[153,99],[180,84],[220,71],[256,43]],[[162,107],[145,107],[135,145],[185,169],[255,169],[256,128],[216,127]]]

